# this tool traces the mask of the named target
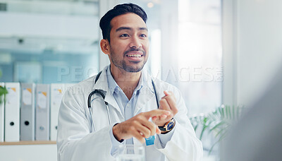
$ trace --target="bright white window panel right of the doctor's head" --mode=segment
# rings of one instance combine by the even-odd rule
[[[179,88],[190,114],[221,105],[221,1],[178,1]]]

